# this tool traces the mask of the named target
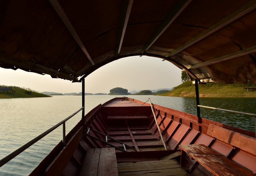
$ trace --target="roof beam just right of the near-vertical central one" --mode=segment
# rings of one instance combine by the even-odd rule
[[[144,48],[141,50],[141,53],[144,53],[147,51],[153,43],[164,33],[164,31],[170,26],[170,24],[179,16],[179,14],[187,7],[187,5],[192,0],[181,0],[178,5],[175,7],[175,9],[170,13],[166,21],[160,26],[160,28],[156,31],[154,36],[148,41],[148,43],[144,46]]]

